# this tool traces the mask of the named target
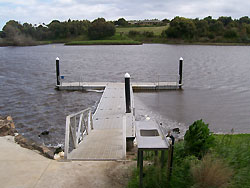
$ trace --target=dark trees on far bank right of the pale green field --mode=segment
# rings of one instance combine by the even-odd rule
[[[250,42],[250,18],[175,17],[170,21],[169,28],[162,33],[162,37],[197,42]]]

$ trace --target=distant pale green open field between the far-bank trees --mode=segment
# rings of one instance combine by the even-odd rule
[[[116,32],[117,33],[125,33],[128,34],[129,31],[134,30],[134,31],[139,31],[139,32],[144,32],[144,31],[153,31],[155,35],[160,35],[163,30],[166,30],[168,26],[160,26],[160,27],[117,27]]]

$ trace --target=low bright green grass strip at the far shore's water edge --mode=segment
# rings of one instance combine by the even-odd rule
[[[134,40],[88,40],[88,41],[71,41],[65,45],[140,45],[141,42]]]

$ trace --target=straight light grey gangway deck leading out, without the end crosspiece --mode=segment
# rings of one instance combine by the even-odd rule
[[[68,159],[122,160],[126,157],[126,129],[133,116],[125,113],[125,87],[122,83],[108,83],[93,116],[90,131]],[[128,127],[126,127],[128,126]]]

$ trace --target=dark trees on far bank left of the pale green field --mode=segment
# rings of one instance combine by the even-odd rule
[[[88,20],[73,20],[60,22],[53,20],[51,23],[38,26],[29,23],[20,24],[15,20],[8,21],[0,31],[0,42],[12,45],[29,45],[35,41],[55,41],[71,39],[86,35],[89,39],[101,39],[115,34],[115,26],[104,18],[93,22]]]

